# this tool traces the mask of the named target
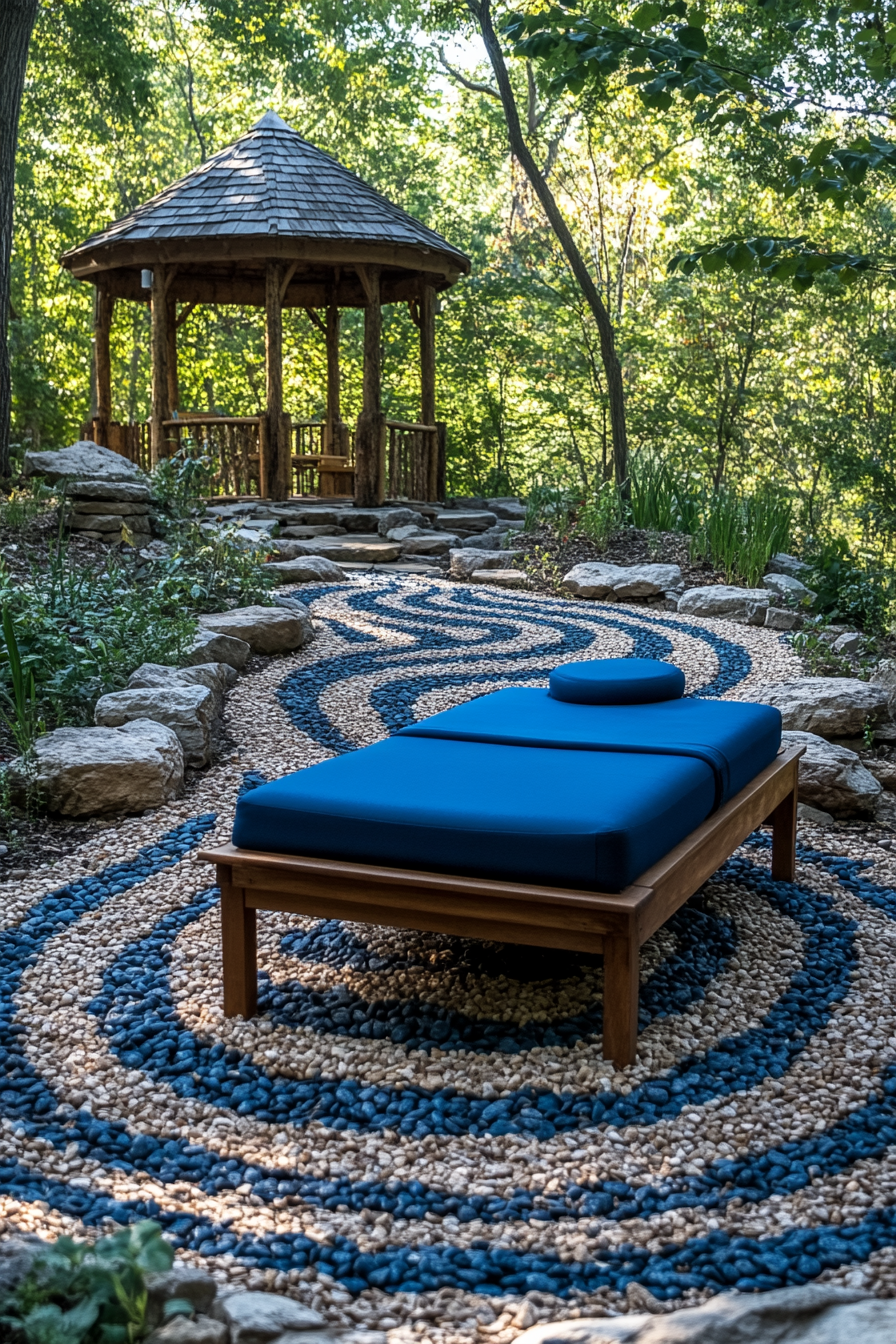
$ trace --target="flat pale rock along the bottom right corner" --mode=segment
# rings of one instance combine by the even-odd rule
[[[896,1300],[805,1284],[767,1293],[720,1293],[669,1314],[637,1312],[535,1325],[516,1344],[892,1344]]]

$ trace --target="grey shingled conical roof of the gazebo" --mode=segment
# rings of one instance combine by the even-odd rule
[[[251,130],[130,215],[66,253],[62,265],[113,296],[144,298],[140,273],[176,267],[181,301],[263,304],[265,266],[296,263],[285,306],[363,306],[356,267],[382,267],[382,300],[446,289],[470,262],[267,112]]]

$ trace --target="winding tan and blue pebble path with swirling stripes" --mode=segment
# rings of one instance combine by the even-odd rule
[[[590,956],[269,914],[259,1016],[220,1008],[196,851],[240,789],[562,661],[666,657],[750,698],[799,671],[787,645],[422,578],[301,595],[317,637],[240,680],[231,761],[0,887],[5,1230],[152,1216],[222,1281],[391,1344],[819,1277],[895,1293],[896,859],[848,829],[803,836],[794,884],[754,836],[652,939],[622,1071]]]

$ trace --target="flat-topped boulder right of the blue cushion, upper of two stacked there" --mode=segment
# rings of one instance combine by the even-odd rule
[[[861,738],[885,718],[887,688],[848,676],[805,676],[794,681],[771,681],[751,696],[780,710],[786,728],[817,732],[822,738]]]

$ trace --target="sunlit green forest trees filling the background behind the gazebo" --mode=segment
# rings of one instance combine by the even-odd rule
[[[273,108],[466,251],[442,296],[449,487],[592,495],[613,469],[592,312],[508,145],[477,5],[62,0],[31,42],[16,172],[13,444],[78,435],[93,289],[66,249]],[[793,495],[807,534],[889,550],[896,515],[896,28],[872,7],[508,5],[493,13],[527,144],[615,331],[633,468]],[[361,314],[347,314],[345,417]],[[384,312],[384,409],[415,418],[416,332]],[[184,409],[251,414],[263,314],[196,308]],[[285,314],[285,401],[325,353]],[[118,304],[118,419],[146,415],[149,320]]]

